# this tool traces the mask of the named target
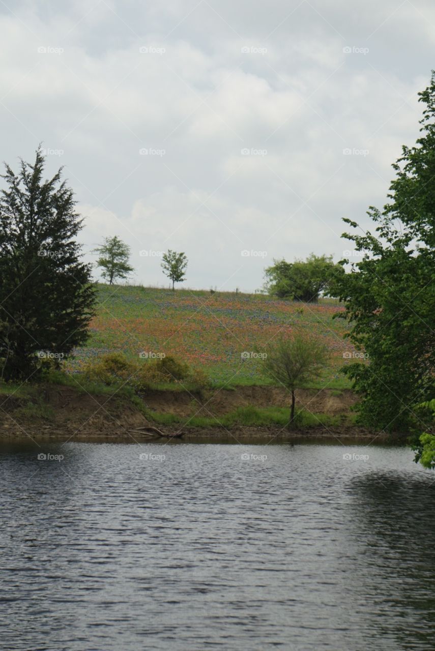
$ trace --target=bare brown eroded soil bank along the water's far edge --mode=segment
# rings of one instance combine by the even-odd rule
[[[236,443],[287,441],[293,439],[366,439],[367,443],[387,440],[384,433],[370,432],[349,425],[349,415],[356,403],[352,391],[300,389],[296,395],[299,408],[313,414],[337,417],[337,424],[322,424],[289,432],[280,425],[227,427],[219,425],[219,416],[240,407],[288,407],[288,392],[277,387],[238,387],[235,390],[193,394],[188,391],[148,391],[141,400],[132,402],[126,396],[91,395],[61,385],[40,385],[37,400],[2,396],[0,436],[6,439],[53,437],[68,440],[144,441],[159,438],[155,427],[165,436],[182,433],[177,441],[210,441]],[[195,427],[154,422],[152,413],[173,414],[188,419],[205,416],[216,419],[216,426]],[[165,439],[163,439],[165,440]],[[175,440],[175,439],[174,439]]]

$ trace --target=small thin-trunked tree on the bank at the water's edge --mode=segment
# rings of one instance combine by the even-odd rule
[[[296,388],[317,378],[327,361],[326,346],[316,339],[305,339],[299,333],[294,339],[281,336],[270,346],[262,371],[271,380],[284,385],[291,393],[289,428],[294,424]]]

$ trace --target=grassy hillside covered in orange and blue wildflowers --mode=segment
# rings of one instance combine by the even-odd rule
[[[331,352],[330,367],[316,383],[348,387],[339,374],[343,353],[352,347],[343,340],[346,324],[333,320],[336,301],[301,305],[261,294],[171,290],[141,286],[98,286],[98,312],[87,346],[76,350],[68,369],[80,371],[90,359],[120,351],[132,359],[139,353],[165,353],[202,367],[218,384],[265,383],[261,361],[242,360],[266,345],[278,332],[302,329],[323,339]],[[266,348],[264,349],[266,350]]]

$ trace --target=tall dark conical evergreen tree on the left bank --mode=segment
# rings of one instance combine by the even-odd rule
[[[80,260],[82,219],[62,169],[43,180],[44,157],[5,165],[0,193],[0,364],[5,380],[27,379],[38,354],[63,359],[87,339],[91,266]]]

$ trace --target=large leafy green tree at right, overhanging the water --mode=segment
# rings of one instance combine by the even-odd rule
[[[434,73],[419,101],[425,104],[422,135],[416,146],[402,147],[384,209],[369,208],[374,233],[343,234],[363,258],[341,275],[335,290],[344,301],[338,316],[348,321],[350,340],[369,357],[368,365],[345,369],[362,395],[359,420],[390,431],[408,430],[413,405],[434,395]]]

